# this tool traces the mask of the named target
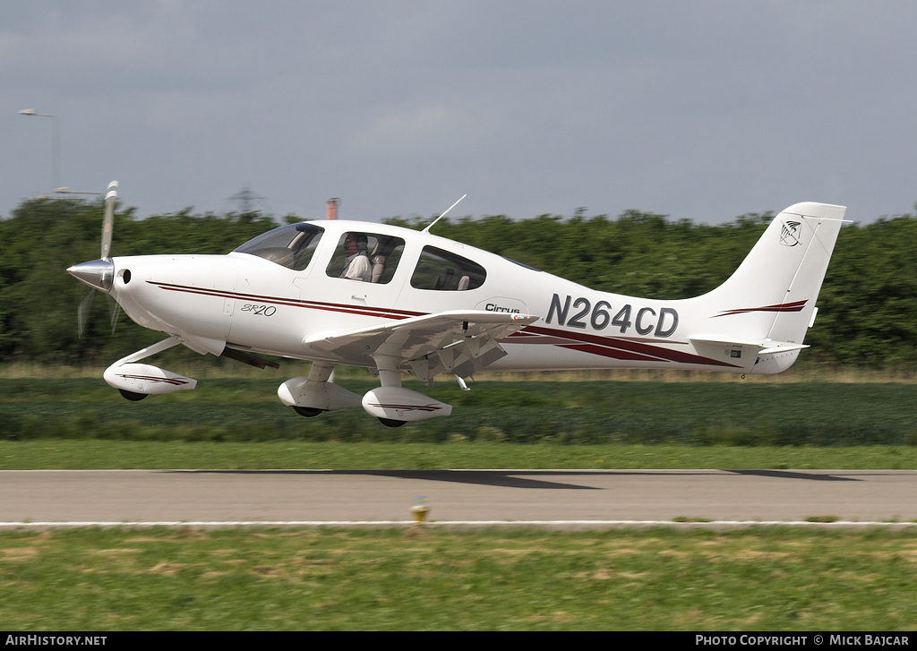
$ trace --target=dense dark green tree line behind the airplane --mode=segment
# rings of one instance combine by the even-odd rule
[[[112,332],[112,306],[99,293],[83,337],[77,308],[88,288],[67,267],[99,257],[101,202],[42,198],[0,220],[0,361],[110,362],[159,335],[130,324]],[[659,299],[689,298],[724,281],[773,215],[721,225],[635,210],[616,217],[506,215],[440,220],[433,231],[596,290]],[[112,254],[226,253],[295,215],[193,215],[191,209],[140,219],[118,206]],[[389,224],[422,228],[423,217]],[[917,215],[844,226],[806,337],[802,359],[834,365],[906,367],[917,361]]]

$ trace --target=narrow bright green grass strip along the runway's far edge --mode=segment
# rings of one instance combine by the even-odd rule
[[[917,447],[0,441],[0,469],[914,469]]]

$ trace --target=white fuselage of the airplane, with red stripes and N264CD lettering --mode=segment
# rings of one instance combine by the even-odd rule
[[[346,277],[345,237],[368,236],[372,281]],[[218,355],[225,347],[371,366],[304,345],[315,338],[449,310],[535,314],[500,343],[493,370],[679,368],[747,372],[753,360],[700,354],[686,301],[597,292],[427,232],[365,222],[282,226],[225,256],[112,259],[111,294],[138,325]]]

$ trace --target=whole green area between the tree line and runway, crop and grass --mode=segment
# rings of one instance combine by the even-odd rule
[[[98,377],[0,378],[0,469],[917,468],[910,381],[442,382],[452,416],[392,429],[299,416],[276,380],[130,403]]]

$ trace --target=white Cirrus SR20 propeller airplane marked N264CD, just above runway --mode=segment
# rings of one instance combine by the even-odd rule
[[[193,389],[191,378],[138,363],[179,344],[260,368],[277,366],[261,355],[306,359],[308,377],[283,382],[282,403],[304,416],[362,406],[390,426],[452,411],[403,387],[405,372],[426,385],[450,373],[467,389],[463,379],[482,369],[789,369],[807,348],[845,215],[792,205],[718,288],[661,301],[593,291],[436,237],[433,224],[306,221],[227,255],[111,258],[116,193],[112,182],[101,259],[68,271],[168,337],[117,360],[108,384],[129,400]],[[337,364],[365,367],[381,386],[349,392],[331,381]]]

